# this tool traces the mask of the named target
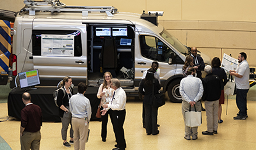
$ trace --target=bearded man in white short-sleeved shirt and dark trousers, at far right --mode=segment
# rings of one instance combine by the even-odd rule
[[[239,53],[238,56],[238,67],[236,71],[230,70],[230,75],[235,76],[236,82],[236,105],[239,112],[235,120],[245,120],[247,116],[247,93],[250,89],[249,78],[250,68],[246,61],[246,54],[244,52]]]

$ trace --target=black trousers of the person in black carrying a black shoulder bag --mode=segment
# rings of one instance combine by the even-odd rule
[[[157,111],[158,107],[153,105],[144,105],[145,108],[145,127],[148,134],[157,134]]]

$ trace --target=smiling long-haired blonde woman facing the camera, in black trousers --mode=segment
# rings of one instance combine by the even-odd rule
[[[99,90],[97,93],[97,97],[101,98],[100,110],[103,109],[103,107],[102,107],[103,104],[109,103],[109,101],[111,101],[111,98],[113,97],[113,92],[114,92],[114,89],[112,89],[110,87],[111,79],[113,78],[111,73],[106,71],[104,73],[103,77],[104,77],[104,82],[102,84],[100,84],[100,87],[99,87]],[[101,123],[101,138],[102,138],[103,142],[106,142],[106,138],[107,138],[108,115],[109,115],[109,111],[107,111],[106,114],[101,116],[101,121],[102,121],[102,123]],[[111,122],[112,122],[112,120],[111,120]]]

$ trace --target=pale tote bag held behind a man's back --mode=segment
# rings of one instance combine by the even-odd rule
[[[196,112],[196,106],[195,112],[191,111],[191,106],[189,105],[189,111],[185,112],[185,124],[189,127],[196,127],[200,126],[202,124],[202,116],[201,112]]]

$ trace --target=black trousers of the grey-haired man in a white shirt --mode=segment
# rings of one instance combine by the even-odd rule
[[[113,117],[113,128],[116,136],[117,147],[120,149],[126,148],[126,142],[124,137],[124,120],[126,111],[124,110],[112,110],[111,116]]]

